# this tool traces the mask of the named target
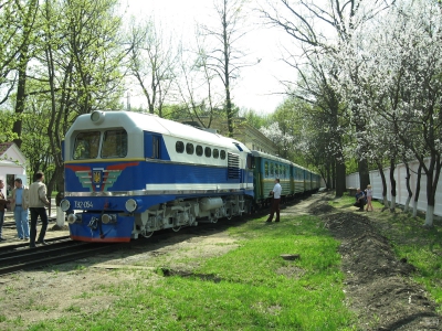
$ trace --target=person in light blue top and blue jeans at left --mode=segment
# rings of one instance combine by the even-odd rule
[[[15,188],[12,189],[11,211],[14,213],[17,234],[19,239],[29,239],[29,189],[23,186],[21,178],[15,178]]]

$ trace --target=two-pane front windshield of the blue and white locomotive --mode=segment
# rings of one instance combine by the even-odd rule
[[[99,143],[101,139],[102,132],[99,131],[80,132],[75,138],[74,160],[96,159],[98,154],[103,159],[124,158],[127,156],[126,130],[104,131],[102,145]]]

